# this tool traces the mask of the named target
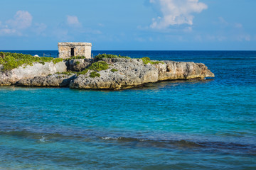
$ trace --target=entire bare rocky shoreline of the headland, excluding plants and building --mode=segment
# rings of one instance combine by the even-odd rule
[[[72,89],[129,89],[146,83],[176,79],[205,79],[214,74],[202,63],[161,61],[144,64],[141,59],[103,58],[108,68],[92,77],[93,70],[78,74],[97,61],[74,59],[58,63],[33,63],[1,71],[0,86],[70,87]],[[154,61],[152,61],[154,62]],[[100,76],[99,76],[100,75]]]

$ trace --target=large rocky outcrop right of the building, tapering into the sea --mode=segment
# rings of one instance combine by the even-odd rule
[[[110,68],[100,71],[100,77],[90,78],[90,72],[70,82],[73,89],[127,89],[149,82],[173,79],[204,79],[214,77],[205,64],[164,61],[144,64],[139,59],[103,59]],[[154,62],[154,61],[153,61]],[[117,72],[111,72],[117,69]]]

